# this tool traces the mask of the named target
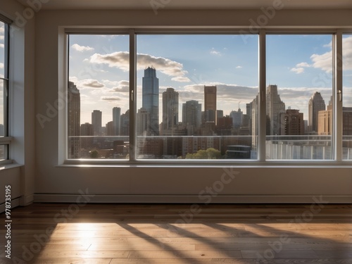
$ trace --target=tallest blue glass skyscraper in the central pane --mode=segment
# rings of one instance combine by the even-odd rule
[[[142,80],[142,108],[150,116],[150,134],[159,135],[159,79],[156,69],[148,67],[144,70]]]

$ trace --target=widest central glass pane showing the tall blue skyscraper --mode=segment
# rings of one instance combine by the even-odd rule
[[[137,158],[256,159],[258,35],[137,35]]]

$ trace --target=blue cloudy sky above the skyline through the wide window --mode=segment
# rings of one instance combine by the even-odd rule
[[[344,35],[344,106],[352,106],[352,35]],[[325,104],[332,95],[331,34],[268,34],[267,85],[276,84],[286,108],[308,119],[308,101],[320,92]],[[75,35],[69,38],[69,76],[80,89],[81,123],[103,112],[103,126],[112,108],[125,113],[129,103],[129,36]],[[1,47],[0,47],[1,49]],[[142,107],[142,77],[156,68],[159,108],[162,93],[172,87],[182,103],[202,103],[204,85],[217,85],[218,110],[224,115],[246,111],[258,94],[258,36],[241,34],[138,34],[137,109]],[[352,91],[352,89],[351,89]],[[202,109],[203,110],[203,109]],[[160,119],[162,113],[160,113]]]

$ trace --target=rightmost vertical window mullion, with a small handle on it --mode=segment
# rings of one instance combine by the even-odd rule
[[[333,157],[336,161],[342,161],[342,32],[337,30],[333,41],[334,63],[334,130],[333,132]]]

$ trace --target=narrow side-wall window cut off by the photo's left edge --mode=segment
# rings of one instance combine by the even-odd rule
[[[8,24],[0,20],[0,161],[8,159]]]

